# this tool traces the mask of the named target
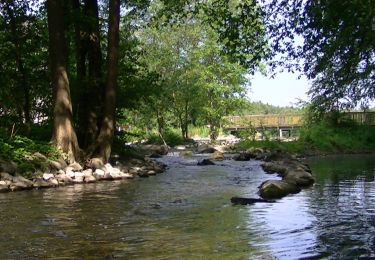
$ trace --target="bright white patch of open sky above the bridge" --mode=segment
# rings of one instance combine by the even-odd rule
[[[281,72],[275,78],[256,73],[251,79],[248,97],[251,101],[262,101],[275,106],[296,106],[298,99],[307,101],[309,82],[298,74]]]

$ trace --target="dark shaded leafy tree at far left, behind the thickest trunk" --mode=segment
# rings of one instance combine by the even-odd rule
[[[0,117],[30,134],[33,121],[48,114],[46,19],[35,1],[0,3]],[[7,117],[9,120],[7,120]],[[17,128],[17,127],[16,127]],[[18,130],[17,129],[17,130]]]

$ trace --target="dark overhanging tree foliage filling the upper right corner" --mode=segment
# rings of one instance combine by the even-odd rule
[[[273,65],[302,70],[313,80],[316,111],[367,106],[375,98],[373,0],[274,0],[265,10],[273,54],[283,54]]]

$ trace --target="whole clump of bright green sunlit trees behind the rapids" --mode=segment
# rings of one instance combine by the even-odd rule
[[[246,69],[222,52],[216,31],[198,18],[151,27],[141,36],[148,70],[159,74],[159,93],[147,103],[157,112],[159,132],[162,134],[162,119],[171,112],[187,139],[195,112],[210,125],[211,137],[216,139],[222,117],[244,96]]]

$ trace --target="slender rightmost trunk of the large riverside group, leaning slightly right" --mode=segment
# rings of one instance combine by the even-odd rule
[[[105,89],[104,115],[97,139],[96,155],[108,161],[115,130],[116,87],[119,59],[120,0],[109,2],[107,84]]]

